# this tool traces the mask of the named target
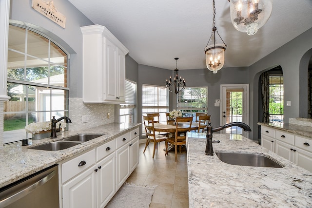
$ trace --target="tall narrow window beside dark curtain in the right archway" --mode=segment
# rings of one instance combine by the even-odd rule
[[[269,77],[269,114],[270,122],[282,122],[284,118],[284,84],[283,76]]]

